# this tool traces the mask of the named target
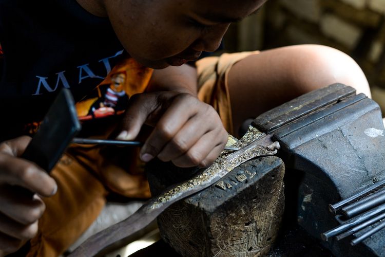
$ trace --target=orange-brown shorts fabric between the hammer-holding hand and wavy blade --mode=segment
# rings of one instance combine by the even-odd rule
[[[27,256],[58,256],[98,217],[107,191],[90,173],[94,164],[86,158],[62,157],[52,171],[57,193],[45,198],[46,210]]]

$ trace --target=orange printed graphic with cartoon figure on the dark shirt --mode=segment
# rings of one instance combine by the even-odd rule
[[[142,66],[134,59],[123,60],[87,98],[76,103],[79,120],[124,113],[128,99],[134,94],[144,92],[151,75],[152,69]]]

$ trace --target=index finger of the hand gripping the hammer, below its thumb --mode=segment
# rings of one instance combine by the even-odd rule
[[[0,182],[24,187],[42,196],[56,193],[55,180],[30,161],[0,153]]]

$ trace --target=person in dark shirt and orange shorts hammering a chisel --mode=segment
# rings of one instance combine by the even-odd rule
[[[143,176],[136,174],[141,163],[127,156],[205,167],[223,150],[226,130],[237,135],[245,119],[307,91],[341,82],[370,95],[358,65],[328,47],[293,46],[186,64],[202,51],[215,51],[230,23],[265,1],[0,0],[7,140],[0,144],[3,253],[25,245],[30,256],[59,255],[98,216],[107,194],[148,197]],[[122,161],[108,151],[74,146],[51,176],[18,157],[30,140],[22,135],[35,128],[30,124],[40,121],[59,88],[71,89],[82,117],[98,97],[93,89],[122,67],[130,97],[123,122],[117,126],[117,115],[91,120],[83,133],[133,140],[141,137],[143,124],[150,125],[140,153],[122,150],[124,163],[117,165]],[[11,185],[36,194],[30,199]]]

